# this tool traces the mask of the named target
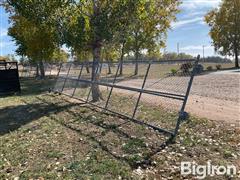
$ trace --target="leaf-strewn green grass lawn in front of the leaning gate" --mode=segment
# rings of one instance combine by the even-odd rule
[[[49,94],[54,79],[21,84],[21,95],[0,98],[0,179],[183,179],[181,161],[240,168],[240,132],[233,127],[190,116],[165,147],[167,138],[153,130]],[[142,106],[151,109],[145,118],[159,117],[160,125],[176,118]]]

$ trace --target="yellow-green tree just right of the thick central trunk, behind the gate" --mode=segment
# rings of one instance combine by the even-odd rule
[[[177,0],[141,0],[134,14],[128,47],[134,52],[138,74],[138,59],[142,50],[149,53],[165,46],[167,30],[176,19],[179,1]]]

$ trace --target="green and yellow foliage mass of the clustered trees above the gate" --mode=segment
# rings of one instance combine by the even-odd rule
[[[5,0],[4,3],[13,14],[9,35],[16,41],[17,53],[39,61],[42,76],[43,60],[52,57],[56,60],[54,52],[66,45],[80,61],[92,53],[93,80],[97,79],[95,70],[101,59],[113,61],[119,56],[123,59],[125,52],[132,52],[138,60],[146,49],[149,57],[160,56],[179,5],[178,0]],[[98,86],[92,88],[92,96],[93,101],[100,99]]]

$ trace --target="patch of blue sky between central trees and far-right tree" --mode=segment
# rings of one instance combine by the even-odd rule
[[[182,0],[177,22],[172,23],[172,29],[168,33],[166,51],[177,52],[179,43],[180,52],[203,56],[204,46],[205,56],[216,55],[204,16],[220,3],[221,0]]]

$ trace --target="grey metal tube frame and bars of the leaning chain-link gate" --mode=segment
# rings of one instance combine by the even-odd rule
[[[116,71],[116,74],[114,76],[114,80],[113,80],[113,83],[111,84],[108,84],[108,83],[105,83],[105,82],[99,82],[99,81],[93,81],[93,80],[84,80],[84,79],[81,79],[81,76],[82,76],[82,71],[83,71],[83,68],[85,67],[86,63],[81,63],[79,64],[80,65],[80,73],[79,73],[79,76],[78,76],[78,79],[75,79],[75,78],[71,78],[69,77],[69,72],[71,70],[71,66],[73,64],[73,62],[68,62],[68,63],[71,63],[68,67],[68,70],[67,70],[67,74],[65,77],[61,77],[60,76],[60,72],[61,72],[61,69],[62,69],[62,65],[60,66],[59,68],[59,72],[58,72],[58,75],[57,75],[57,79],[62,79],[64,80],[64,83],[63,83],[63,86],[61,88],[61,90],[55,90],[54,88],[51,89],[51,92],[53,93],[58,93],[58,94],[62,94],[62,95],[65,95],[65,96],[68,96],[70,98],[73,98],[73,99],[77,99],[77,100],[80,100],[86,104],[90,104],[92,106],[95,106],[97,108],[100,108],[102,110],[104,110],[105,112],[110,112],[114,115],[117,115],[117,116],[120,116],[122,118],[127,118],[129,119],[130,121],[134,122],[134,123],[137,123],[137,124],[140,124],[140,125],[145,125],[147,127],[150,127],[152,128],[153,130],[156,130],[164,135],[168,135],[170,136],[170,138],[174,138],[176,137],[177,133],[178,133],[178,130],[180,128],[180,124],[181,122],[183,122],[187,117],[188,117],[188,113],[185,112],[185,107],[186,107],[186,104],[187,104],[187,101],[188,101],[188,97],[189,97],[189,94],[190,94],[190,91],[191,91],[191,87],[192,87],[192,83],[193,83],[193,79],[194,79],[194,76],[196,74],[196,69],[197,69],[197,65],[198,65],[198,62],[200,60],[200,56],[197,57],[197,59],[190,59],[190,60],[175,60],[174,62],[178,62],[178,63],[183,63],[183,62],[191,62],[193,63],[193,70],[191,72],[191,75],[190,75],[190,79],[189,79],[189,82],[188,82],[188,87],[187,87],[187,90],[186,90],[186,93],[185,95],[179,95],[179,94],[173,94],[173,93],[166,93],[166,92],[158,92],[158,91],[153,91],[153,90],[146,90],[144,89],[145,87],[145,84],[146,84],[146,80],[147,80],[147,77],[148,77],[148,73],[149,73],[149,69],[151,67],[152,64],[161,64],[161,63],[167,63],[167,62],[170,62],[169,60],[166,60],[166,61],[141,61],[141,62],[138,62],[138,63],[146,63],[148,64],[148,67],[147,67],[147,72],[144,76],[144,80],[143,80],[143,84],[142,84],[142,87],[139,89],[139,88],[134,88],[134,87],[126,87],[126,86],[121,86],[121,85],[116,85],[115,82],[117,80],[117,76],[118,76],[118,73],[119,73],[119,69],[120,69],[120,66],[123,64],[123,63],[135,63],[133,61],[131,62],[128,62],[128,61],[124,61],[124,62],[119,62],[118,63],[118,67],[117,67],[117,71]],[[101,69],[101,66],[102,64],[100,64],[99,66],[97,66],[97,72],[99,71],[99,69]],[[66,85],[66,82],[67,80],[72,80],[72,81],[76,81],[76,85],[74,87],[74,90],[73,90],[73,93],[72,94],[67,94],[67,93],[64,93],[63,90],[65,88],[65,85]],[[89,90],[89,93],[88,93],[88,98],[87,100],[83,100],[81,98],[78,98],[78,97],[75,97],[75,92],[76,92],[76,89],[77,89],[77,85],[78,85],[78,82],[83,82],[83,83],[89,83],[91,84],[91,89]],[[101,86],[105,86],[105,87],[110,87],[111,90],[110,90],[110,93],[108,95],[108,98],[107,98],[107,101],[106,101],[106,104],[104,107],[101,107],[97,104],[94,104],[93,102],[90,102],[89,101],[89,96],[91,94],[91,91],[92,91],[92,86],[93,85],[101,85]],[[135,108],[134,108],[134,112],[133,112],[133,115],[130,117],[130,116],[127,116],[125,114],[122,114],[122,113],[119,113],[119,112],[116,112],[116,111],[113,111],[113,110],[110,110],[108,109],[108,103],[109,103],[109,100],[111,98],[111,95],[112,95],[112,91],[113,91],[113,88],[118,88],[118,89],[123,89],[123,90],[129,90],[129,91],[133,91],[133,92],[138,92],[139,93],[139,97],[137,99],[137,102],[136,102],[136,105],[135,105]],[[157,126],[154,126],[154,125],[151,125],[149,123],[146,123],[144,121],[141,121],[139,119],[136,119],[135,118],[135,115],[136,115],[136,112],[137,112],[137,109],[138,109],[138,106],[139,106],[139,102],[141,100],[141,97],[143,94],[150,94],[150,95],[155,95],[155,96],[161,96],[161,97],[166,97],[166,98],[171,98],[171,99],[175,99],[175,100],[180,100],[182,101],[182,105],[181,105],[181,109],[179,111],[179,115],[178,115],[178,118],[177,118],[177,123],[176,123],[176,127],[173,131],[170,131],[170,130],[167,130],[167,129],[164,129],[164,128],[160,128],[160,127],[157,127]]]

